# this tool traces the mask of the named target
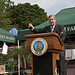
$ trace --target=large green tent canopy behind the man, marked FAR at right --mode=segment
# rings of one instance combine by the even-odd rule
[[[67,35],[75,34],[75,7],[63,9],[56,15],[57,24],[64,25],[64,30]],[[36,26],[37,29],[42,29],[48,26],[48,21]],[[33,34],[29,29],[18,31],[18,39],[25,40],[25,35]]]

